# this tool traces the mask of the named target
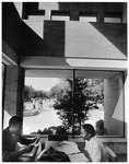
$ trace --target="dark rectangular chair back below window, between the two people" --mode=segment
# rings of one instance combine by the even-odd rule
[[[48,136],[48,141],[63,141],[68,140],[67,134],[49,134]]]

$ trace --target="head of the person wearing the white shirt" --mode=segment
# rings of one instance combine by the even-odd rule
[[[95,130],[94,130],[94,127],[90,124],[85,124],[82,126],[82,129],[81,129],[81,137],[84,139],[84,140],[90,140],[92,137],[95,136]]]

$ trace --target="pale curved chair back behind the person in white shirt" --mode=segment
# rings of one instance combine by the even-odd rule
[[[117,155],[113,152],[113,150],[110,150],[108,147],[105,147],[105,149],[108,154],[108,162],[117,162]]]

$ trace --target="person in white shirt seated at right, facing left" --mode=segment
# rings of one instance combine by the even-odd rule
[[[92,125],[85,124],[81,129],[81,137],[85,140],[83,153],[90,162],[107,162],[107,153],[103,143],[95,137]]]

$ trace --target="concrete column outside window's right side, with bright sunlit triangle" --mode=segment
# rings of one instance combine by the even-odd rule
[[[122,74],[104,80],[104,120],[109,136],[125,132],[124,84]]]

